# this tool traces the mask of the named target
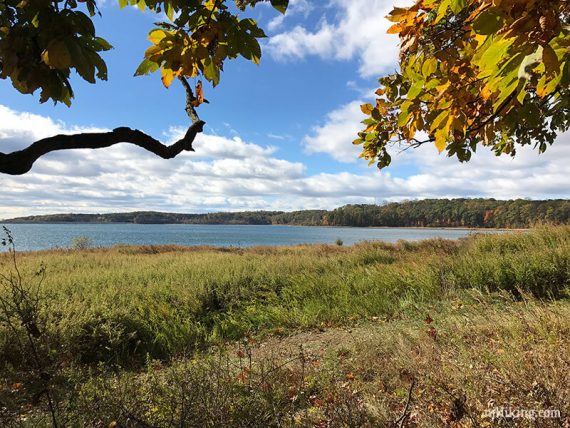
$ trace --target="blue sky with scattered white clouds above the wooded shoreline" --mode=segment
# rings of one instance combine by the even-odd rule
[[[227,62],[221,83],[205,86],[199,114],[205,132],[195,152],[163,160],[120,144],[51,153],[30,173],[0,174],[0,218],[50,213],[133,210],[216,212],[331,209],[349,203],[420,198],[570,197],[570,134],[539,155],[516,158],[481,148],[469,163],[433,146],[393,149],[379,171],[352,145],[360,104],[374,99],[379,76],[397,67],[398,37],[384,19],[393,0],[291,0],[283,16],[266,4],[250,11],[266,29],[261,65]],[[187,129],[184,90],[167,90],[158,73],[133,77],[157,17],[101,5],[98,35],[109,80],[72,79],[72,107],[39,104],[0,80],[0,151],[11,152],[61,133],[138,128],[165,143]]]

